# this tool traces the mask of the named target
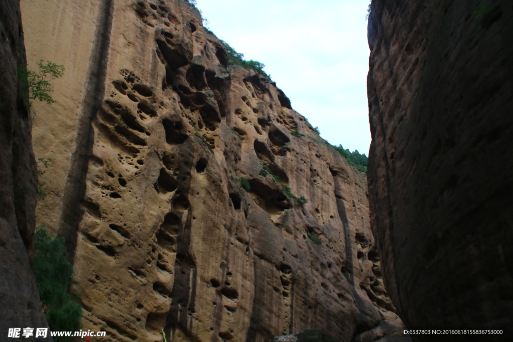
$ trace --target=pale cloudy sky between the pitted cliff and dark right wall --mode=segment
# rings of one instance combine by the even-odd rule
[[[368,0],[197,0],[206,27],[264,70],[332,145],[368,155]]]

